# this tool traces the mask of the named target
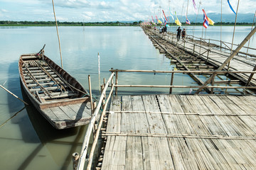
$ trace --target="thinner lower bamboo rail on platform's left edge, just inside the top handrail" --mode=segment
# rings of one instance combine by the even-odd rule
[[[90,150],[90,157],[89,157],[89,161],[88,161],[88,164],[87,164],[87,170],[90,170],[91,166],[92,166],[92,158],[93,158],[93,154],[94,154],[94,151],[95,151],[95,147],[97,145],[97,140],[98,140],[99,135],[100,135],[100,129],[101,129],[101,126],[102,126],[103,118],[105,117],[105,113],[106,113],[106,109],[107,109],[107,103],[110,101],[110,97],[111,97],[113,91],[114,91],[114,84],[112,84],[112,88],[110,90],[110,94],[107,97],[106,104],[105,104],[105,106],[103,108],[102,115],[100,117],[100,123],[98,125],[97,132],[95,134],[95,140],[93,141],[92,148]]]

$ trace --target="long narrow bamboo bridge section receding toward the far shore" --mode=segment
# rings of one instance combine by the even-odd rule
[[[160,52],[166,53],[166,57],[171,60],[178,60],[177,67],[183,70],[206,70],[217,69],[230,55],[230,50],[220,50],[220,47],[207,42],[198,42],[191,38],[177,40],[176,35],[162,35],[155,30],[144,30],[154,45],[159,48]],[[245,54],[245,52],[242,52]],[[239,53],[238,53],[239,54]],[[250,55],[250,54],[249,54]],[[255,55],[252,55],[255,57]],[[198,61],[197,61],[198,60]],[[253,57],[245,57],[245,55],[235,55],[230,60],[230,67],[224,67],[230,71],[252,71],[255,69],[256,60]],[[231,75],[231,74],[230,74]],[[250,74],[232,74],[235,79],[246,83]],[[252,86],[256,86],[256,75],[254,74],[250,81]]]

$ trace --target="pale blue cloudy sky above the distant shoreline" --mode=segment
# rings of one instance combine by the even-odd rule
[[[201,1],[201,5],[199,2]],[[227,0],[222,0],[223,13],[233,13]],[[239,0],[230,0],[237,10]],[[151,16],[166,16],[169,11],[177,15],[187,10],[188,15],[196,14],[192,0],[54,0],[55,15],[58,21],[105,22],[105,21],[145,21]],[[202,13],[220,13],[221,0],[195,0]],[[240,0],[238,13],[255,13],[256,0]],[[0,0],[0,21],[54,21],[52,0]]]

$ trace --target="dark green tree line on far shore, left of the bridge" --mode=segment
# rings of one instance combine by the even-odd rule
[[[139,22],[124,23],[124,22],[60,22],[58,26],[138,26]],[[55,21],[0,21],[0,26],[55,26]]]

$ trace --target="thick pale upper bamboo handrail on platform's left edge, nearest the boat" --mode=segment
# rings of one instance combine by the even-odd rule
[[[105,86],[105,88],[104,88],[104,90],[102,92],[102,95],[100,96],[99,103],[97,104],[97,108],[95,109],[95,111],[94,111],[94,113],[92,115],[92,118],[90,120],[90,123],[88,125],[87,131],[86,131],[86,134],[85,134],[85,139],[82,142],[82,149],[81,149],[81,152],[80,152],[80,159],[79,159],[79,162],[78,162],[78,170],[83,170],[84,169],[86,154],[87,154],[87,150],[88,150],[88,146],[89,146],[89,141],[90,141],[90,135],[92,134],[92,128],[94,127],[94,124],[95,124],[95,121],[96,121],[96,117],[97,117],[97,114],[100,111],[100,106],[102,104],[104,95],[105,95],[105,93],[107,91],[107,87],[110,84],[110,81],[112,80],[113,76],[114,76],[114,73],[112,73],[110,75],[110,79],[107,80],[106,86]]]

